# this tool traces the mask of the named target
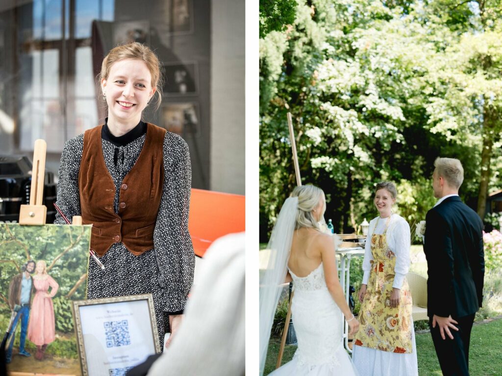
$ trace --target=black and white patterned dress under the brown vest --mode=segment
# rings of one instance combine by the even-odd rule
[[[115,183],[115,213],[118,213],[120,184],[136,163],[145,138],[146,124],[143,122],[120,137],[113,137],[106,125],[103,127],[103,156]],[[57,205],[70,221],[73,216],[81,215],[78,174],[82,149],[83,134],[68,140],[59,166]],[[88,299],[152,293],[161,348],[169,326],[167,315],[183,312],[195,267],[188,232],[192,179],[188,146],[180,136],[166,132],[163,153],[164,187],[154,231],[154,248],[135,256],[122,243],[114,243],[100,257],[104,270],[90,258],[87,284]],[[54,223],[64,224],[65,221],[58,214]]]

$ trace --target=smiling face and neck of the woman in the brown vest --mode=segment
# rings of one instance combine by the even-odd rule
[[[156,89],[143,60],[124,59],[111,66],[108,77],[101,80],[101,90],[108,105],[108,124],[135,126]]]

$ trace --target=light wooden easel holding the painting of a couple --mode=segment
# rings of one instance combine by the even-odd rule
[[[45,178],[45,156],[47,151],[47,143],[38,139],[35,141],[33,151],[33,168],[32,168],[32,183],[30,190],[30,204],[21,205],[19,211],[19,224],[29,226],[43,226],[46,224],[47,207],[42,205],[44,198],[44,178]],[[72,225],[82,225],[82,217],[74,216]],[[12,330],[12,320],[9,324],[9,332]],[[15,330],[15,329],[14,329]],[[7,333],[6,333],[7,334]],[[14,337],[11,337],[13,340]],[[49,374],[39,372],[8,372],[10,376],[49,376]],[[51,373],[54,376],[54,374]],[[58,375],[58,376],[74,376],[74,375]]]

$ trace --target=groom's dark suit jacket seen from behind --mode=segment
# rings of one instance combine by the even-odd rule
[[[458,196],[427,212],[427,314],[463,317],[483,301],[483,223]]]

